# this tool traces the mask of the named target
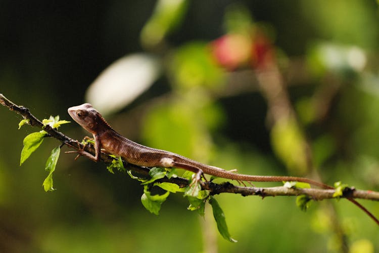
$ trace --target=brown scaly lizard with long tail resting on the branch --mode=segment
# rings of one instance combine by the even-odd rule
[[[103,118],[98,110],[89,103],[73,106],[68,108],[70,116],[92,134],[94,140],[95,155],[92,155],[83,149],[78,151],[68,151],[66,153],[77,153],[93,161],[99,161],[100,154],[103,151],[109,154],[122,157],[126,162],[145,167],[165,167],[165,168],[182,168],[195,173],[195,179],[192,183],[201,181],[204,174],[236,180],[238,182],[283,182],[296,181],[308,183],[313,186],[324,189],[334,189],[333,187],[301,177],[292,176],[255,176],[237,174],[222,168],[206,165],[196,160],[184,157],[166,150],[155,149],[135,143],[122,135],[118,134],[111,125]],[[206,180],[206,179],[205,179]]]

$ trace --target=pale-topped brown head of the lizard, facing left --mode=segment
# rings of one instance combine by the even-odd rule
[[[92,107],[91,104],[85,103],[68,108],[68,114],[91,134],[97,133],[99,119],[102,118],[100,113]]]

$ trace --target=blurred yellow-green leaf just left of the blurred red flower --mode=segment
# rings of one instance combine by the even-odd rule
[[[224,74],[217,66],[207,44],[188,43],[177,49],[170,61],[173,85],[189,89],[194,87],[221,88]]]

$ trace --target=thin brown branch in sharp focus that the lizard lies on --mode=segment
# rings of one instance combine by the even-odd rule
[[[53,137],[62,142],[62,144],[68,145],[70,147],[74,147],[79,150],[84,148],[85,151],[94,154],[94,148],[90,145],[83,146],[78,141],[71,139],[70,137],[64,135],[63,133],[51,128],[50,125],[44,126],[42,122],[37,119],[33,114],[30,113],[29,109],[24,106],[19,106],[8,100],[3,94],[0,93],[0,104],[8,107],[11,111],[15,111],[20,114],[23,118],[29,120],[29,124],[32,126],[36,126],[37,128],[43,129],[45,132],[49,134],[50,137]],[[77,148],[76,148],[77,147]],[[104,163],[111,163],[113,158],[109,155],[102,153],[101,161]],[[149,171],[150,168],[137,166],[134,164],[127,163],[124,161],[125,167],[128,170],[131,170],[135,173],[138,173],[144,177],[150,177]],[[156,182],[169,182],[178,185],[183,188],[188,186],[188,180],[185,178],[162,178],[157,180]],[[314,200],[322,200],[322,199],[331,199],[336,198],[333,196],[335,193],[334,189],[315,189],[315,188],[288,188],[285,186],[278,187],[246,187],[246,186],[235,186],[229,182],[224,182],[221,184],[216,184],[213,182],[204,182],[202,184],[202,189],[210,191],[211,195],[220,194],[220,193],[234,193],[241,194],[243,196],[248,195],[257,195],[261,197],[269,197],[269,196],[298,196],[298,195],[307,195]],[[379,201],[379,192],[375,191],[365,191],[358,190],[354,187],[345,188],[343,191],[343,195],[341,198],[359,198],[359,199],[369,199],[373,201]]]

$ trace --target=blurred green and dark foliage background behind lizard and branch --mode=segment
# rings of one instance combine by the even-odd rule
[[[335,1],[1,1],[0,93],[39,119],[90,102],[139,143],[255,175],[379,190],[379,8]],[[0,108],[1,252],[374,252],[379,230],[346,200],[216,196],[230,243],[171,194],[46,139],[20,167],[20,116]],[[78,124],[60,131],[81,140]],[[64,147],[62,151],[67,151]],[[220,181],[221,182],[221,181]],[[280,184],[257,183],[256,186]],[[374,215],[379,204],[360,200]]]

